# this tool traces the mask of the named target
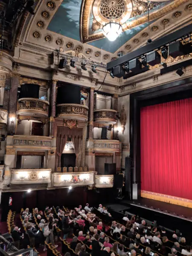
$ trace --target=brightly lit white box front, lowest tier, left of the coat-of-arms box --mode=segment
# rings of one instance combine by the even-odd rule
[[[49,183],[51,169],[15,169],[11,170],[12,184]]]

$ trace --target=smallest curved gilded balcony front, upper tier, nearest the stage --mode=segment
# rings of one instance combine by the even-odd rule
[[[116,124],[117,111],[113,109],[97,109],[93,113],[93,121],[103,125]]]

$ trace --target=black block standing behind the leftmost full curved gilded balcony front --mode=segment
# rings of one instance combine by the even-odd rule
[[[19,98],[39,98],[39,84],[21,84]]]

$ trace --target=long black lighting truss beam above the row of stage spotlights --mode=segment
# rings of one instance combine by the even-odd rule
[[[185,35],[188,35],[192,32],[192,24],[189,24],[186,27],[183,27],[182,29],[179,29],[169,35],[166,35],[162,38],[159,38],[155,41],[153,41],[151,44],[146,44],[145,46],[141,47],[140,49],[137,49],[133,52],[127,53],[126,55],[123,55],[122,57],[108,62],[107,64],[107,70],[111,70],[113,67],[123,65],[127,63],[128,61],[131,61],[134,58],[139,58],[141,55],[146,54],[147,52],[154,51],[156,49],[160,49],[160,47],[170,44],[173,41],[176,41],[180,38],[182,38]]]

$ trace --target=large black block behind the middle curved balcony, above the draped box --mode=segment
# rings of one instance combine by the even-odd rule
[[[57,89],[57,104],[81,104],[81,87],[75,84],[66,84]]]

